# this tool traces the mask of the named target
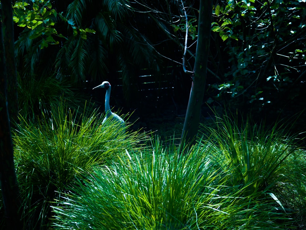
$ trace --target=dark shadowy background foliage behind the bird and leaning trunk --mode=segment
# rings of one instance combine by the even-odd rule
[[[188,16],[186,68],[193,71],[198,4],[54,1],[52,10],[65,16],[65,20],[59,14],[50,16],[57,35],[62,35],[54,36],[59,43],[41,49],[44,35],[30,39],[35,29],[16,25],[18,72],[38,81],[53,75],[59,84],[73,86],[102,107],[104,91],[91,89],[108,80],[111,106],[123,113],[134,111],[134,120],[140,118],[136,126],[161,123],[162,118],[178,122],[175,118],[184,117],[191,86],[191,76],[181,65],[186,31],[182,9]],[[299,0],[214,1],[203,117],[210,116],[208,106],[251,113],[255,120],[269,122],[300,113],[294,128],[301,131],[306,85],[304,6]],[[43,2],[39,7],[47,8]],[[75,28],[95,33],[86,33],[84,39]],[[22,81],[27,79],[21,77]]]

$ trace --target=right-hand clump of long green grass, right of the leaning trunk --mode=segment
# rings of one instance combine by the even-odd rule
[[[266,127],[252,124],[248,119],[238,126],[233,117],[216,117],[215,126],[202,126],[208,140],[202,142],[204,145],[212,144],[210,158],[223,170],[229,171],[228,185],[238,189],[244,200],[250,202],[248,207],[254,209],[258,200],[275,201],[270,211],[267,212],[267,207],[259,211],[267,214],[267,220],[286,229],[296,221],[290,220],[289,217],[294,217],[292,213],[306,205],[306,161],[305,151],[296,147],[295,137],[286,133],[286,127],[277,128],[278,125]],[[293,201],[293,197],[297,202]],[[250,218],[245,214],[243,216]],[[256,214],[251,219],[259,217],[263,218]],[[236,221],[241,223],[241,217]],[[258,225],[263,226],[262,223]]]

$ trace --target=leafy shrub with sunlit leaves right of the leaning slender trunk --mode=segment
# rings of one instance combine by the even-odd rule
[[[303,4],[223,1],[215,6],[212,31],[223,40],[215,46],[224,50],[216,61],[221,81],[211,86],[218,94],[215,100],[233,109],[253,107],[253,113],[283,108],[287,99],[298,104],[305,82]]]

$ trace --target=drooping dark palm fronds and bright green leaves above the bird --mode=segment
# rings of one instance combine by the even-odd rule
[[[23,1],[14,9],[16,23],[24,26],[16,41],[20,72],[41,78],[52,73],[74,84],[118,73],[127,90],[136,67],[159,68],[154,48],[131,25],[128,1]]]

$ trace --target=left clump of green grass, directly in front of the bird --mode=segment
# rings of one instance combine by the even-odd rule
[[[20,117],[13,142],[26,229],[48,228],[50,202],[74,184],[77,174],[118,161],[126,148],[141,148],[144,134],[130,132],[130,124],[126,132],[119,124],[102,125],[103,118],[86,106],[83,112],[71,110],[65,102],[35,123]]]

